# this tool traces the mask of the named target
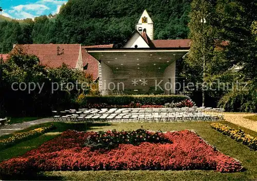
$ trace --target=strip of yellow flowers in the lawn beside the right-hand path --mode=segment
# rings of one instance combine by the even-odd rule
[[[253,150],[257,150],[257,137],[253,137],[249,134],[244,133],[241,129],[232,129],[227,125],[220,123],[212,123],[211,127],[222,134],[225,134],[232,139],[235,139],[237,142],[242,142],[244,145],[247,145]]]

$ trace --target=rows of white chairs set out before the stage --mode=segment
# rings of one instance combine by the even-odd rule
[[[135,111],[138,110],[138,111]],[[108,122],[138,122],[138,121],[174,121],[174,120],[220,120],[224,119],[222,114],[207,114],[201,111],[160,111],[160,109],[101,109],[93,111],[77,111],[74,114],[55,115],[58,121],[72,122],[94,122],[106,120]],[[163,109],[164,110],[164,109]]]

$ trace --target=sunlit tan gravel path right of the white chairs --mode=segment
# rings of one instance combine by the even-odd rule
[[[230,123],[233,123],[238,126],[245,127],[247,129],[253,130],[257,132],[257,122],[254,120],[246,119],[245,116],[252,116],[254,114],[247,114],[247,113],[224,113],[224,118]]]

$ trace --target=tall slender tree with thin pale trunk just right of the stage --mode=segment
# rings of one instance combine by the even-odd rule
[[[206,0],[193,0],[191,3],[190,38],[191,48],[187,57],[188,67],[192,70],[192,76],[188,81],[203,83],[201,91],[203,106],[205,105],[205,84],[210,71],[209,63],[213,57],[215,26],[213,5]]]

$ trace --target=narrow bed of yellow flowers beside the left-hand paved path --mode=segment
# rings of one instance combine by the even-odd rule
[[[14,144],[22,142],[23,140],[28,140],[33,137],[40,136],[53,129],[56,129],[56,127],[54,125],[50,125],[48,127],[36,128],[34,130],[23,133],[16,133],[7,139],[0,139],[0,149],[10,147]]]

